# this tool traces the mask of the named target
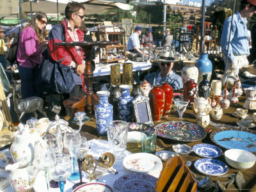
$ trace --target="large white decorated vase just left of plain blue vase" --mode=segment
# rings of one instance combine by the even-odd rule
[[[195,67],[196,61],[183,61],[184,67],[181,71],[182,83],[186,83],[188,79],[195,79],[195,83],[198,80],[198,68]]]

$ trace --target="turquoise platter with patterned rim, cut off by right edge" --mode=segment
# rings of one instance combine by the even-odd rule
[[[231,149],[243,149],[249,152],[256,152],[256,132],[250,130],[220,129],[213,131],[211,140],[220,147]]]

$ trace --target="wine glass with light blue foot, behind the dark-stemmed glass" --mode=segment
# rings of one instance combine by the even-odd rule
[[[72,140],[72,138],[81,138],[80,132],[73,130],[71,132],[65,132],[64,136],[63,136],[63,143],[65,148],[67,148],[69,150],[69,145],[70,145],[70,141]],[[68,178],[68,180],[77,180],[79,179],[79,172],[76,172],[76,159],[74,157],[72,157],[73,159],[73,172],[70,175],[70,177]]]

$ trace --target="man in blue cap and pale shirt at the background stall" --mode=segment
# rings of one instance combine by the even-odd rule
[[[138,53],[141,57],[143,55],[143,52],[140,49],[140,38],[142,29],[139,26],[136,26],[135,32],[130,36],[127,44],[127,49],[129,52],[135,52]],[[146,56],[146,54],[144,54]]]

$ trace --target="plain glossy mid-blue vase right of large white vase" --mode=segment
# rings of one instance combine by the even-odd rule
[[[195,65],[198,68],[198,81],[199,84],[203,80],[203,74],[208,74],[207,80],[210,81],[212,76],[212,62],[208,59],[207,53],[201,53]]]

